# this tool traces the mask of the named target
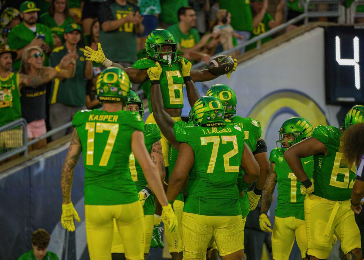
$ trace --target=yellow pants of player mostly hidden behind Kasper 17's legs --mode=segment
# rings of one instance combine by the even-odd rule
[[[152,242],[154,216],[144,215],[143,222],[144,222],[144,237],[145,237],[144,253],[146,254],[149,253],[150,244]],[[116,225],[116,220],[114,218],[114,237],[112,238],[112,243],[111,243],[111,253],[124,253],[124,252],[125,251],[124,251],[123,240],[119,235],[118,226]]]

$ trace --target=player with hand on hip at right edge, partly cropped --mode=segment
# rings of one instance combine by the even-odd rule
[[[284,153],[289,168],[302,183],[305,197],[307,254],[310,260],[327,259],[333,235],[341,241],[347,259],[361,260],[360,233],[350,209],[355,165],[346,165],[339,152],[340,137],[351,125],[364,121],[363,106],[354,106],[344,117],[343,127],[318,126],[311,137]],[[313,155],[313,178],[303,169],[301,158]]]

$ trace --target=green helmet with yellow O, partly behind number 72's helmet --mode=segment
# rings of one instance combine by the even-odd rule
[[[225,118],[229,118],[235,115],[236,95],[234,90],[232,90],[229,86],[223,84],[215,84],[214,86],[210,87],[206,95],[214,96],[221,102],[225,110]]]

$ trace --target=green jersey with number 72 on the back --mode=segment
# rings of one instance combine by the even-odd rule
[[[244,132],[237,125],[186,126],[176,140],[194,151],[183,211],[206,216],[241,215],[237,178],[244,150]]]

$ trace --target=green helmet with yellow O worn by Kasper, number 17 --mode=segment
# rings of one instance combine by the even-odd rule
[[[100,73],[96,81],[99,101],[125,101],[130,87],[131,82],[128,74],[117,67],[108,67]]]

